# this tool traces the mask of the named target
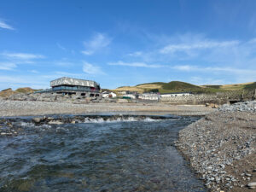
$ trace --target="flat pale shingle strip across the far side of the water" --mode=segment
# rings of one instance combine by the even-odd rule
[[[177,115],[205,115],[214,111],[204,106],[173,106],[163,103],[32,102],[0,100],[0,116],[26,116],[61,113],[167,112]]]

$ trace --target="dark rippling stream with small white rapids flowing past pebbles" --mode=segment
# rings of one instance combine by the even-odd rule
[[[197,119],[16,120],[22,131],[0,137],[0,191],[206,191],[173,146]]]

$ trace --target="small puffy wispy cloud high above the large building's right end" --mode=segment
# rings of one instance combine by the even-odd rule
[[[84,55],[93,55],[96,51],[107,47],[111,43],[111,38],[103,33],[96,33],[89,41],[84,41]]]

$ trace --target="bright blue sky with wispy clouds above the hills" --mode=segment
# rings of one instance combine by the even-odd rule
[[[0,90],[256,81],[254,0],[3,0]]]

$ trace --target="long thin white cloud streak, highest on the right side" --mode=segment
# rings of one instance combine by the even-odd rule
[[[192,44],[168,44],[164,48],[160,49],[160,53],[168,54],[176,51],[187,51],[190,49],[212,49],[230,47],[239,44],[239,41],[212,41],[203,40]]]

